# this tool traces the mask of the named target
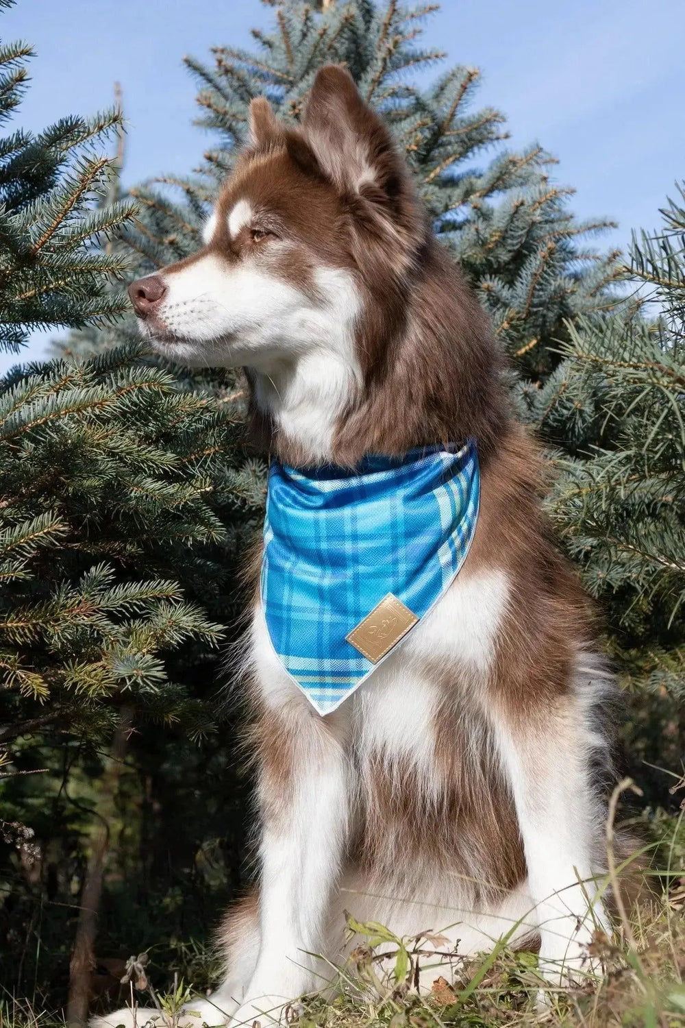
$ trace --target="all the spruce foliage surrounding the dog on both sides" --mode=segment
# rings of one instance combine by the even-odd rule
[[[681,201],[661,231],[636,237],[630,261],[603,253],[593,241],[609,223],[577,222],[553,157],[537,144],[507,150],[503,116],[475,106],[478,70],[441,72],[441,56],[421,49],[431,8],[271,6],[254,52],[220,46],[207,66],[188,61],[216,145],[187,177],[119,198],[118,161],[102,156],[116,111],[0,141],[0,338],[16,348],[35,326],[72,329],[59,358],[0,383],[3,985],[53,1005],[99,846],[93,994],[149,947],[153,965],[206,984],[200,943],[248,874],[239,701],[221,690],[263,465],[242,439],[239,375],[145,355],[121,283],[197,248],[250,100],[266,95],[297,120],[329,61],[345,62],[387,118],[511,358],[521,416],[549,449],[555,527],[626,687],[631,771],[648,810],[677,802]],[[29,56],[0,51],[5,121]]]

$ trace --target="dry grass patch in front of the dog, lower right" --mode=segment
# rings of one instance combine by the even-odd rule
[[[511,952],[500,945],[491,954],[462,962],[451,985],[437,977],[431,992],[420,996],[410,984],[416,959],[412,948],[417,941],[404,941],[410,956],[409,974],[399,984],[392,972],[379,979],[374,969],[374,948],[360,946],[352,954],[350,966],[340,975],[340,995],[330,1002],[317,997],[305,1001],[300,1026],[685,1025],[682,911],[665,896],[643,904],[634,912],[631,934],[633,945],[597,933],[594,955],[602,960],[603,976],[587,976],[581,986],[568,992],[547,992],[550,1005],[543,1012],[538,1007],[541,982],[533,954]]]

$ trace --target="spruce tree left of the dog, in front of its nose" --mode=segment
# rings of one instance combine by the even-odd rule
[[[121,315],[127,258],[108,240],[136,211],[112,198],[102,152],[116,111],[37,135],[9,127],[31,56],[0,48],[0,346],[17,354],[37,328]],[[212,590],[234,589],[235,512],[259,495],[248,471],[230,471],[240,445],[214,399],[137,344],[0,380],[0,938],[28,939],[47,895],[53,914],[33,957],[2,947],[2,980],[17,994],[66,982],[75,941],[75,1022],[108,849],[119,859],[98,825],[124,757],[154,766],[176,730],[182,766],[216,726]],[[189,662],[204,692],[184,678]]]

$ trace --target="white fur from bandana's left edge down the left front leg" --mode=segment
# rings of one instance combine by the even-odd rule
[[[288,813],[265,829],[261,841],[262,945],[243,983],[246,1002],[234,1015],[235,1024],[251,1025],[268,1023],[264,1012],[272,1007],[277,1020],[284,1002],[326,983],[326,967],[309,954],[321,952],[354,790],[349,755],[284,671],[261,605],[253,618],[249,663],[263,701],[290,722],[298,740]],[[344,734],[349,711],[336,718]]]

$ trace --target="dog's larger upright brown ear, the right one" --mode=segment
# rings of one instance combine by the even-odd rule
[[[326,65],[314,79],[303,126],[320,167],[348,192],[392,196],[403,162],[392,137],[359,96],[349,72]]]

